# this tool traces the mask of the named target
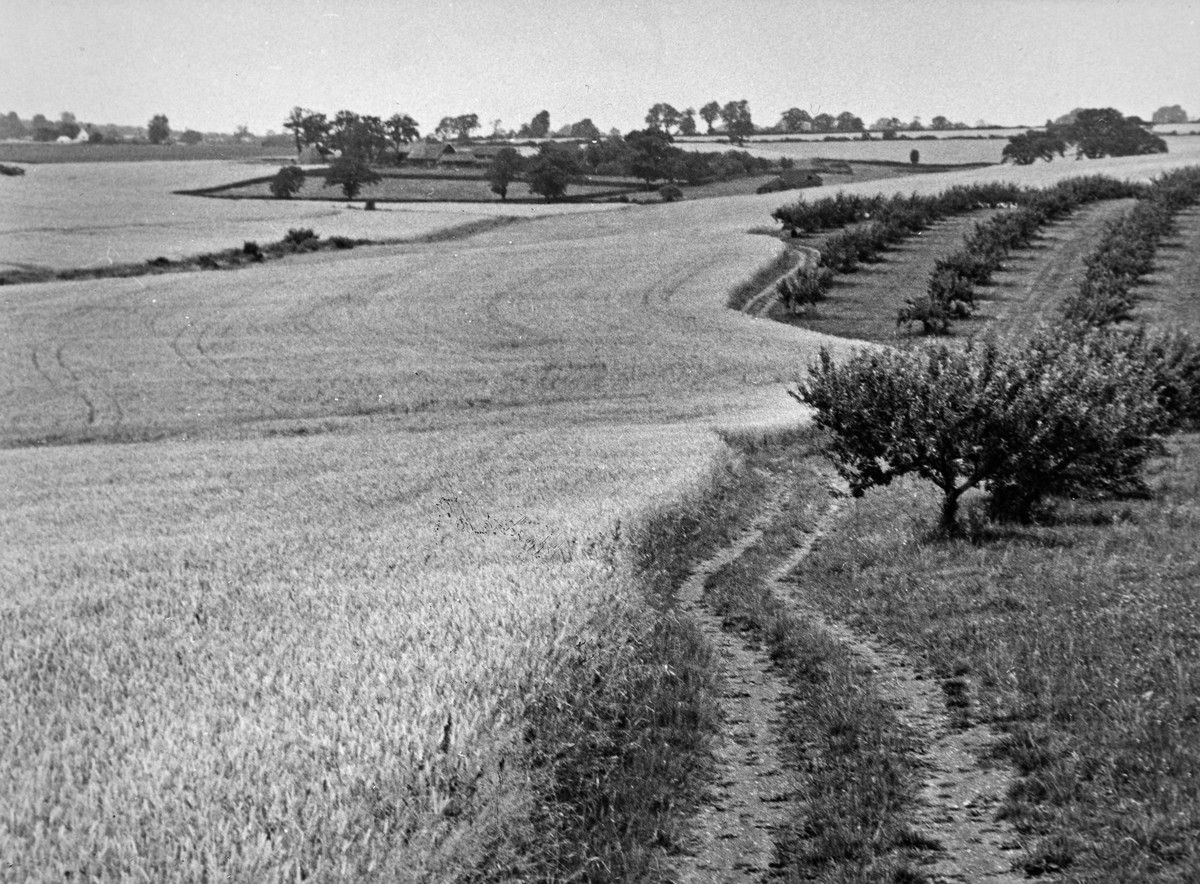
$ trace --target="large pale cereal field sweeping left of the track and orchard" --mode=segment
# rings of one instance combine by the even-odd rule
[[[746,231],[779,203],[0,291],[11,874],[396,880],[479,860],[532,801],[526,710],[569,654],[654,620],[630,531],[730,458],[714,428],[803,420],[784,390],[830,341],[724,308],[778,252]],[[240,223],[299,222],[209,235],[236,243]]]

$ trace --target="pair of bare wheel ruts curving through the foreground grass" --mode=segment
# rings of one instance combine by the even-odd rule
[[[776,491],[754,525],[703,561],[679,591],[680,607],[709,637],[721,661],[725,722],[713,751],[713,784],[694,822],[691,849],[677,860],[679,884],[773,879],[781,871],[775,867],[775,835],[805,800],[799,777],[784,763],[788,740],[780,732],[787,698],[803,685],[790,684],[772,662],[769,649],[749,632],[732,629],[703,601],[706,579],[760,542],[764,527],[779,517],[782,497],[782,491]],[[1008,823],[996,819],[1014,774],[982,760],[998,734],[954,714],[949,704],[959,694],[949,693],[902,651],[827,618],[804,597],[803,575],[796,576],[796,571],[835,527],[841,509],[834,498],[803,542],[764,579],[796,619],[824,632],[871,672],[878,696],[922,746],[917,759],[920,782],[910,824],[941,847],[922,866],[925,880],[1024,882],[1022,873],[1012,871],[1019,838]]]

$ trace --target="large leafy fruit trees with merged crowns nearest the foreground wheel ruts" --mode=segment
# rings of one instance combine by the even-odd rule
[[[916,474],[941,489],[941,525],[954,531],[972,488],[986,489],[991,515],[1027,519],[1049,495],[1136,485],[1163,427],[1153,383],[1120,339],[1075,327],[845,365],[822,350],[792,396],[830,432],[856,497]]]

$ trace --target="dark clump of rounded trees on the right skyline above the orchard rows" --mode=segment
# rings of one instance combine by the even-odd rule
[[[1038,160],[1051,161],[1075,149],[1075,158],[1096,160],[1105,156],[1165,154],[1166,142],[1148,131],[1148,124],[1136,116],[1123,116],[1114,108],[1076,108],[1066,118],[1046,125],[1045,131],[1030,130],[1008,139],[1002,162],[1028,166]]]

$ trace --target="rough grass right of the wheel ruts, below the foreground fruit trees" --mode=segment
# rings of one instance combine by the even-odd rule
[[[952,541],[931,539],[926,488],[900,482],[799,572],[833,617],[966,674],[1022,775],[1004,812],[1030,873],[1200,876],[1200,437],[1170,441],[1151,491]]]

